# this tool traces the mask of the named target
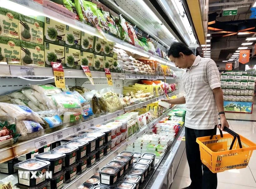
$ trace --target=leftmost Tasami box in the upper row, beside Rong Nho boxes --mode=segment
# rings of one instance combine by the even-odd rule
[[[66,39],[66,25],[45,17],[44,42],[64,46]]]

